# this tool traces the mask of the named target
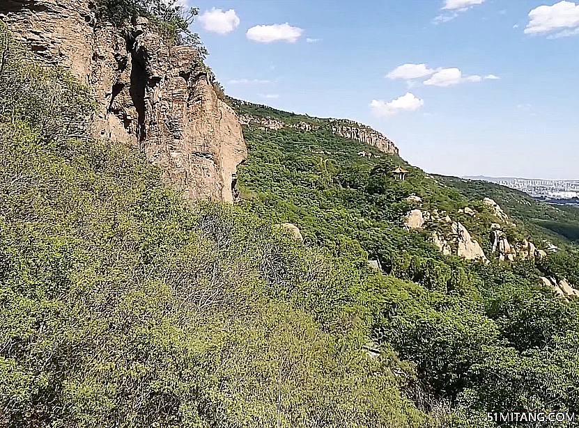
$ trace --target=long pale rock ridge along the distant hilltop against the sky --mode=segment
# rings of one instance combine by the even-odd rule
[[[367,127],[366,125],[362,125],[361,123],[352,120],[330,119],[327,123],[320,122],[320,125],[316,125],[303,120],[295,123],[286,123],[283,120],[275,118],[259,118],[246,114],[240,116],[240,122],[242,125],[252,125],[263,129],[278,130],[288,127],[293,129],[302,129],[302,131],[311,131],[313,129],[328,127],[327,124],[329,123],[329,128],[334,135],[359,141],[360,143],[377,148],[381,152],[399,154],[398,148],[389,138],[387,138],[387,136]]]

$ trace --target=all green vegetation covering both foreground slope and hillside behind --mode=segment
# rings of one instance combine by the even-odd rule
[[[579,308],[539,279],[579,284],[569,240],[500,263],[481,195],[325,125],[245,127],[236,206],[188,203],[137,149],[88,137],[90,88],[2,26],[0,49],[0,427],[478,428],[488,412],[579,412]],[[408,196],[459,219],[491,262],[401,227]],[[507,232],[534,238],[511,215]]]

